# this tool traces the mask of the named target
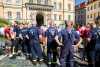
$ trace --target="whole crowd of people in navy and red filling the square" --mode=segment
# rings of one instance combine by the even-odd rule
[[[74,67],[74,48],[83,45],[82,60],[87,58],[89,67],[97,67],[100,62],[98,26],[87,24],[74,29],[72,21],[65,21],[66,27],[59,29],[51,20],[48,25],[15,22],[5,26],[5,53],[9,57],[24,54],[33,63],[47,61],[48,67],[56,67],[58,60],[60,67]]]

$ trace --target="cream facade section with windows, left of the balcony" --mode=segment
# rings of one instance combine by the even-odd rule
[[[26,0],[23,0],[24,2]],[[13,22],[14,20],[23,20],[22,17],[25,17],[25,11],[22,11],[22,0],[2,0],[3,7],[3,18]],[[8,17],[9,13],[9,17]],[[19,19],[17,18],[17,13],[19,13]],[[22,13],[24,13],[22,15]]]

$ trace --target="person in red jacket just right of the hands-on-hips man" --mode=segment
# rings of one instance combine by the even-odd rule
[[[82,26],[78,29],[80,33],[80,37],[82,39],[82,46],[83,46],[83,55],[82,55],[82,60],[84,61],[86,58],[86,47],[87,43],[90,41],[91,38],[91,27],[90,24],[87,24],[86,26]]]

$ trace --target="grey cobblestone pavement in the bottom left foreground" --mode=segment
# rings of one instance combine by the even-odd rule
[[[45,63],[32,64],[30,60],[5,57],[0,61],[0,67],[47,67],[47,65]]]

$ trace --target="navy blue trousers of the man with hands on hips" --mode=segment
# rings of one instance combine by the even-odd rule
[[[63,46],[60,55],[60,67],[74,67],[73,48]]]

